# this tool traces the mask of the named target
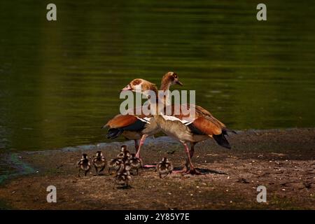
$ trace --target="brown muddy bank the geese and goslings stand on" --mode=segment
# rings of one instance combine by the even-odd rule
[[[172,174],[160,179],[152,169],[132,177],[132,188],[114,188],[105,172],[78,178],[76,162],[102,150],[109,160],[120,144],[92,149],[20,153],[34,172],[0,186],[0,207],[14,209],[315,209],[315,129],[246,131],[229,137],[232,150],[208,140],[195,147],[194,164],[204,175]],[[134,151],[132,142],[127,142]],[[170,154],[168,152],[173,152]],[[142,150],[145,163],[167,156],[174,167],[185,160],[183,147],[162,137]],[[47,186],[56,186],[57,203],[46,202]],[[258,203],[256,188],[267,188]]]

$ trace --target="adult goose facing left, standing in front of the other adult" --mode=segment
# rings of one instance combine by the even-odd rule
[[[153,83],[148,82],[147,80],[137,78],[137,82],[132,82],[123,88],[123,90],[132,90],[137,92],[139,86],[141,85],[141,92],[144,93],[146,90],[153,90],[156,93],[158,92],[156,86]],[[160,99],[157,102],[151,102],[151,104],[160,104]],[[197,142],[204,141],[206,139],[214,139],[216,143],[224,148],[231,148],[225,135],[228,135],[228,130],[223,123],[214,118],[214,116],[209,113],[206,109],[203,109],[201,106],[197,105],[186,105],[186,108],[192,113],[195,113],[193,118],[189,115],[184,116],[183,111],[180,110],[179,114],[174,113],[174,106],[171,106],[170,115],[164,115],[163,111],[165,107],[160,109],[160,106],[155,106],[157,111],[155,111],[155,123],[162,132],[167,134],[169,137],[179,140],[185,147],[187,153],[187,162],[186,162],[186,174],[200,174],[197,172],[193,166],[190,158],[193,157],[194,146]],[[166,106],[166,107],[167,107]],[[188,119],[189,118],[189,119]],[[191,151],[188,148],[188,143],[191,145]],[[190,169],[188,169],[188,166]],[[183,172],[183,170],[181,171]]]

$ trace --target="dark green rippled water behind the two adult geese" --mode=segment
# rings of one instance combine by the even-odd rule
[[[176,71],[232,129],[314,127],[315,6],[309,1],[0,3],[0,151],[107,141],[133,78]]]

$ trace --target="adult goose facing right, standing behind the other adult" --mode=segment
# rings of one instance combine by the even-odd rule
[[[134,80],[137,83],[137,80]],[[176,73],[169,71],[162,77],[160,90],[167,91],[171,85],[183,85],[179,81],[179,76]],[[169,102],[169,99],[164,99],[165,104]],[[146,120],[150,120],[146,123]],[[160,132],[158,125],[155,123],[154,118],[147,118],[146,116],[134,116],[134,115],[121,115],[118,114],[111,120],[109,120],[104,127],[109,127],[109,131],[106,135],[108,139],[115,139],[116,137],[123,135],[128,140],[134,140],[134,147],[137,151],[137,158],[140,158],[141,146],[146,141],[146,137],[153,136]],[[140,142],[138,144],[138,140]]]

